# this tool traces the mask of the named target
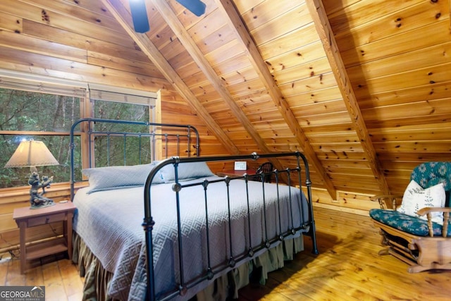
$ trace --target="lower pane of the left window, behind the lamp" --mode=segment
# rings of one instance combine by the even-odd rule
[[[3,139],[0,140],[0,149],[2,149],[2,152],[5,155],[0,156],[0,188],[28,185],[30,168],[4,168],[6,162],[11,158],[20,144],[20,141],[23,139],[33,139],[44,142],[59,163],[59,165],[56,166],[37,166],[39,176],[54,176],[54,183],[68,182],[70,180],[69,136],[2,135],[2,137]],[[77,145],[80,145],[80,137],[75,137],[75,142]],[[76,162],[81,161],[79,150],[75,149],[74,159]]]

